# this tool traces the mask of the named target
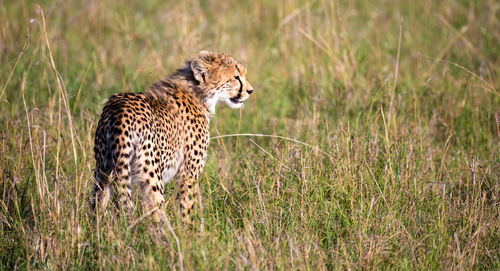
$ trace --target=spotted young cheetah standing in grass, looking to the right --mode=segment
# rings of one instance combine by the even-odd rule
[[[106,103],[95,133],[94,207],[113,198],[133,211],[133,187],[155,220],[165,215],[164,184],[176,177],[181,223],[192,224],[218,102],[240,108],[253,92],[247,69],[234,58],[201,51],[143,93],[121,93]],[[134,184],[134,186],[132,186]]]

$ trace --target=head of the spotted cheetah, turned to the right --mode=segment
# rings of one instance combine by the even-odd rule
[[[200,94],[212,113],[218,102],[240,108],[253,92],[246,79],[247,69],[228,55],[201,51],[191,61],[190,67],[199,83]]]

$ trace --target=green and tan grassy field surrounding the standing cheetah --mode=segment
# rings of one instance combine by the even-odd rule
[[[0,0],[0,270],[500,269],[498,1],[176,2]],[[96,220],[107,98],[203,49],[255,93],[212,119],[197,226],[173,184],[166,236]],[[248,133],[281,138],[218,137]]]

